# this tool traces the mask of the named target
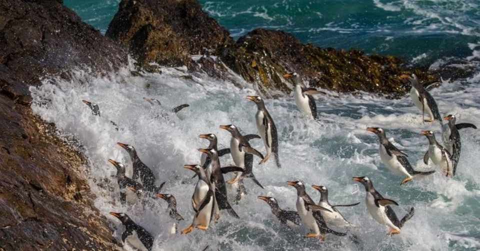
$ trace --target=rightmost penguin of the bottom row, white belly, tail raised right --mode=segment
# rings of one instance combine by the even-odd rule
[[[398,206],[398,203],[383,198],[383,196],[373,188],[373,184],[368,177],[353,177],[353,180],[360,182],[365,187],[365,204],[371,217],[373,217],[373,219],[379,224],[387,226],[389,228],[389,235],[399,234],[403,224],[413,216],[413,207],[410,208],[410,211],[408,211],[400,221],[398,221],[395,212],[390,206],[388,206]]]

